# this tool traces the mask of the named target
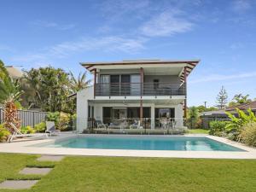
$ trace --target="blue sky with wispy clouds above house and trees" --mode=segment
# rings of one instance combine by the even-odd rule
[[[82,61],[189,60],[188,105],[256,97],[255,0],[0,0],[6,65],[84,72]],[[88,73],[88,79],[91,79]]]

